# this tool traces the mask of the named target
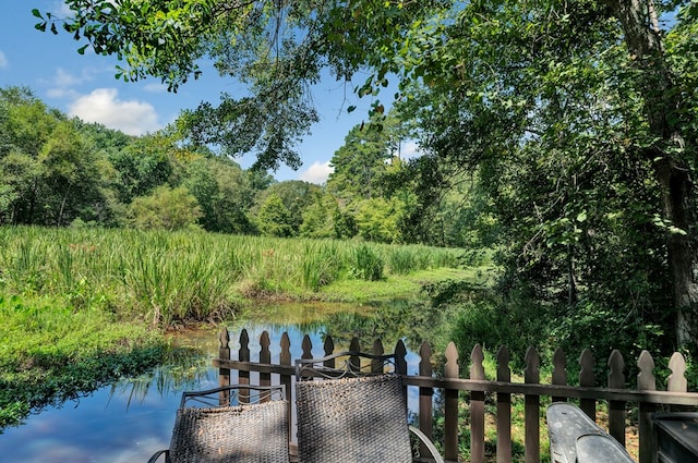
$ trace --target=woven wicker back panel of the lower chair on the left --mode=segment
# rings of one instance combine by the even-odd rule
[[[172,463],[287,463],[288,402],[177,411]]]

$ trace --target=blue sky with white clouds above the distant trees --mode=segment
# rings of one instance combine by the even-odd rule
[[[87,122],[99,122],[132,135],[163,129],[182,109],[195,108],[200,101],[214,105],[221,92],[238,95],[244,92],[229,78],[219,77],[213,69],[204,68],[198,81],[190,81],[177,94],[167,92],[158,78],[124,83],[115,78],[117,59],[87,51],[77,53],[84,42],[69,34],[58,36],[34,28],[37,19],[32,9],[67,14],[60,0],[5,0],[0,16],[0,87],[26,86],[51,108],[76,115]],[[365,80],[359,75],[358,81]],[[357,81],[357,82],[358,82]],[[392,94],[383,96],[389,102]],[[305,180],[323,183],[328,162],[344,144],[349,130],[366,118],[370,98],[357,100],[352,86],[327,78],[313,90],[313,100],[321,122],[298,147],[303,166],[298,171],[281,167],[272,172],[277,180]],[[346,108],[356,105],[352,113]],[[248,168],[254,158],[245,156],[237,161]]]

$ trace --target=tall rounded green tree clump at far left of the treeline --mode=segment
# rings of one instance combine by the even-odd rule
[[[0,90],[0,222],[64,226],[108,209],[100,159],[28,89]]]

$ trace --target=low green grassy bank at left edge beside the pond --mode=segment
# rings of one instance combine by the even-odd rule
[[[0,297],[0,432],[32,410],[137,375],[170,352],[143,327],[50,298]]]

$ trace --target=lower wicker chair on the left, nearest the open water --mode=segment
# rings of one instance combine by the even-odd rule
[[[220,403],[224,405],[220,405]],[[288,463],[288,402],[284,386],[234,385],[184,392],[166,463]]]

